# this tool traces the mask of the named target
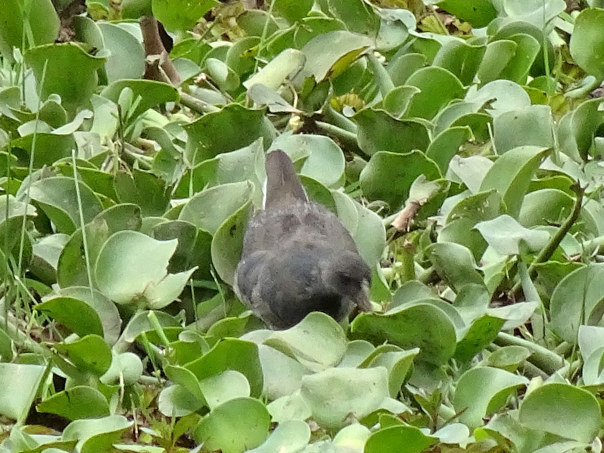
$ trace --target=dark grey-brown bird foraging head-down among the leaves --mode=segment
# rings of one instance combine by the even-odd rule
[[[309,201],[283,150],[266,156],[264,209],[249,219],[234,277],[239,299],[274,330],[310,312],[336,321],[370,311],[371,270],[342,222]]]

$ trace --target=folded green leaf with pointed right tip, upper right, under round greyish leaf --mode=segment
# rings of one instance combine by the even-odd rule
[[[507,206],[507,214],[516,218],[528,184],[549,152],[547,148],[536,146],[519,146],[509,150],[489,169],[480,190],[497,190]]]

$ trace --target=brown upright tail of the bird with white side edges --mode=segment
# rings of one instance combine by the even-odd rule
[[[306,202],[306,191],[296,175],[292,159],[275,149],[266,156],[265,209]]]

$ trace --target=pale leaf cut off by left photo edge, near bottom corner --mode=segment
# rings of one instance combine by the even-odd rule
[[[1,381],[11,389],[0,393],[0,414],[14,420],[25,420],[45,368],[40,365],[0,363]]]

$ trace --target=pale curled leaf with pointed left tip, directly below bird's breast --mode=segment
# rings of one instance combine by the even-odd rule
[[[342,327],[332,317],[320,312],[309,313],[296,326],[274,332],[264,343],[313,371],[333,367],[346,350]],[[329,351],[317,347],[321,344],[329,344]]]

